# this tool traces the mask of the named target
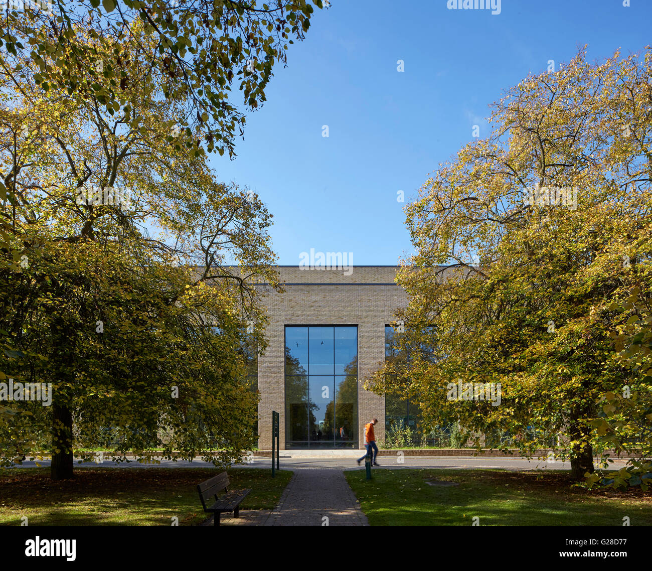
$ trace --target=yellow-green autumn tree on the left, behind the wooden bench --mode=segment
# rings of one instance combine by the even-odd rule
[[[153,41],[138,21],[131,31],[113,44],[128,82],[123,106],[108,110],[89,79],[53,97],[37,62],[0,57],[4,372],[53,390],[51,407],[14,401],[0,431],[23,453],[34,447],[28,434],[47,431],[55,479],[72,476],[75,425],[82,441],[117,427],[118,453],[163,444],[191,457],[217,442],[216,461],[254,437],[239,348],[248,321],[265,348],[254,282],[278,283],[271,216],[216,181],[187,131],[171,134],[184,96],[147,75]],[[173,428],[167,442],[163,426]]]

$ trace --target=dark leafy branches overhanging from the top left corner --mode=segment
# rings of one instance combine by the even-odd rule
[[[179,127],[189,149],[233,155],[245,123],[230,98],[233,80],[247,108],[264,102],[274,65],[286,63],[288,44],[310,27],[312,5],[321,0],[102,0],[101,8],[100,0],[53,0],[52,10],[7,7],[0,46],[37,65],[44,93],[93,97],[111,114],[125,112],[134,129],[149,118],[129,112],[124,91],[141,80],[156,84],[164,97],[183,100]],[[130,73],[125,43],[138,45],[145,74]]]

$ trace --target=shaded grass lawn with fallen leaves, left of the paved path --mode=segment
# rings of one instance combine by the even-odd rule
[[[0,469],[0,525],[179,525],[200,523],[197,484],[215,468],[76,468],[73,480],[52,482],[49,468]],[[229,471],[230,489],[251,488],[242,510],[272,509],[292,472]],[[229,517],[229,516],[226,516]]]

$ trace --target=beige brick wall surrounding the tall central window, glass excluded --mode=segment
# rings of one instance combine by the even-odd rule
[[[394,266],[358,266],[344,270],[280,266],[285,293],[268,292],[264,303],[270,323],[269,347],[258,359],[259,448],[271,448],[271,411],[281,415],[280,444],[285,448],[284,327],[286,325],[357,325],[359,380],[385,359],[385,324],[407,303],[394,283]],[[364,424],[378,417],[376,438],[385,433],[385,398],[358,388],[358,440],[364,448]]]

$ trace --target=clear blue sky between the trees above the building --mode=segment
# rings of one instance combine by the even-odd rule
[[[447,0],[331,0],[290,46],[288,67],[275,68],[238,156],[211,166],[265,202],[279,264],[311,248],[397,264],[411,252],[403,207],[473,125],[488,134],[482,119],[503,91],[584,44],[593,61],[651,42],[652,0],[630,4],[502,0],[492,15]]]

